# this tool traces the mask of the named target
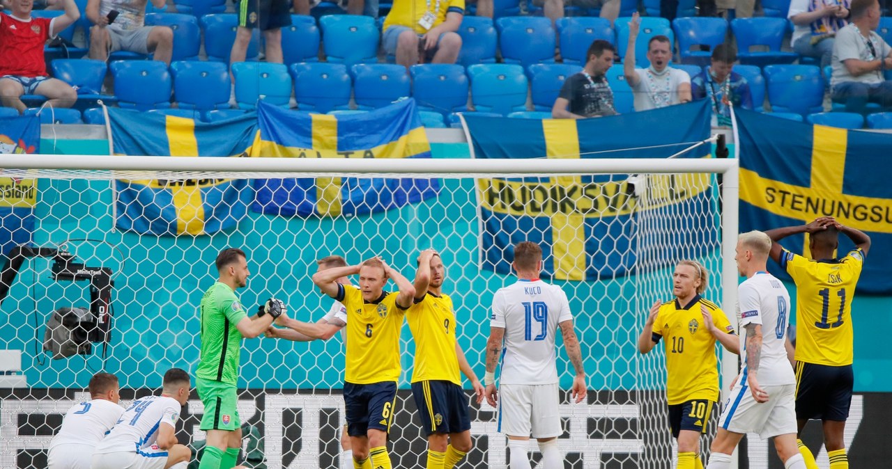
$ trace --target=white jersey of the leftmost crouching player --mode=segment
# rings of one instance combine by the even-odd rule
[[[52,452],[54,447],[66,444],[95,448],[123,413],[124,408],[111,400],[94,399],[78,402],[65,413],[62,427],[53,437],[49,450]]]

